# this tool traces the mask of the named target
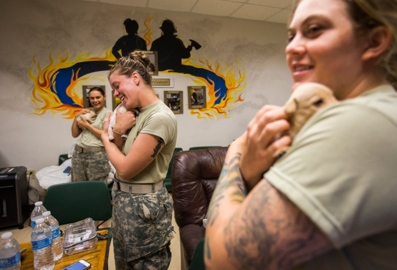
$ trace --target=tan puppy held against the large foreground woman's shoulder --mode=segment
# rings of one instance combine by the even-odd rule
[[[284,110],[289,117],[288,122],[291,128],[282,132],[277,138],[289,135],[291,140],[293,140],[302,126],[314,113],[337,102],[337,99],[333,96],[332,90],[322,84],[305,82],[299,85],[294,92],[292,92],[291,97],[284,105]],[[274,154],[274,157],[281,156],[288,149],[289,147],[279,149]]]

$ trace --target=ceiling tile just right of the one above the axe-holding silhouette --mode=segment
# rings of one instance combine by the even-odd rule
[[[191,11],[206,15],[229,16],[241,5],[242,4],[238,2],[223,0],[198,0]]]

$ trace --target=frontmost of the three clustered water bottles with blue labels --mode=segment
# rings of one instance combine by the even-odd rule
[[[44,223],[44,218],[36,220],[36,226],[31,236],[33,250],[33,266],[35,270],[52,270],[55,267],[52,253],[52,234],[50,227]]]

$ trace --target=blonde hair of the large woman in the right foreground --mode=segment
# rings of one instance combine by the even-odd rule
[[[389,47],[379,61],[385,68],[387,80],[397,89],[397,1],[396,0],[343,0],[355,23],[357,36],[364,36],[375,27],[384,25],[391,33]],[[293,13],[301,0],[293,3]],[[288,23],[290,23],[293,14]]]

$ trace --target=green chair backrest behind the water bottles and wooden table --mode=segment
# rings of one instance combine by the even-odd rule
[[[44,195],[43,205],[61,225],[85,218],[108,220],[112,217],[108,185],[102,181],[69,182],[50,186]]]

